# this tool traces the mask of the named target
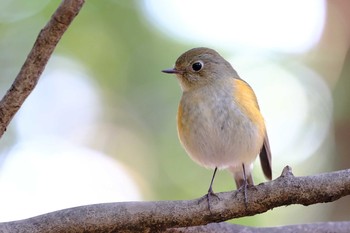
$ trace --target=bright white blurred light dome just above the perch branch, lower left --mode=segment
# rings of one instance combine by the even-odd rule
[[[74,206],[142,200],[125,166],[58,138],[18,143],[6,156],[0,171],[0,222]]]

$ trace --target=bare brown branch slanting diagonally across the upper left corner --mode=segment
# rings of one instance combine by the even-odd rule
[[[41,30],[19,74],[0,101],[0,137],[34,89],[58,41],[79,13],[84,0],[64,0]]]

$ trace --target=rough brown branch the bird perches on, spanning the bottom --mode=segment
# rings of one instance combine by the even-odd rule
[[[0,224],[0,232],[203,232],[223,224],[207,225],[232,218],[252,216],[278,206],[311,205],[332,202],[350,194],[350,169],[307,177],[295,177],[290,167],[270,182],[248,187],[248,207],[241,190],[218,193],[211,199],[211,211],[206,198],[183,201],[120,202],[80,206],[37,217]],[[334,225],[335,224],[335,225]],[[195,228],[183,228],[201,226]],[[316,225],[289,226],[294,232],[305,232]],[[320,225],[318,225],[318,228]],[[332,232],[350,232],[349,222],[324,223]],[[346,229],[345,231],[334,231]],[[178,229],[174,229],[178,228]],[[244,228],[244,227],[241,227]],[[250,232],[266,232],[271,228],[249,228]],[[299,230],[297,230],[299,229]],[[316,228],[315,228],[316,229]],[[212,231],[216,231],[212,230]],[[205,231],[204,231],[205,232]],[[248,231],[249,232],[249,231]],[[270,231],[269,232],[273,232]],[[286,230],[286,232],[288,232]]]

